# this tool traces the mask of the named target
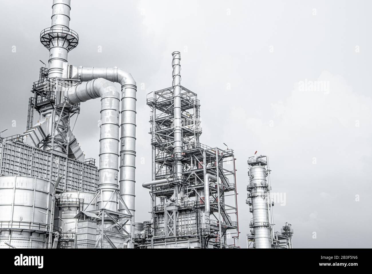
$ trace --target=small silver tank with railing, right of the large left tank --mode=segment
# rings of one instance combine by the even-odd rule
[[[96,209],[96,201],[93,201],[93,203],[87,207],[95,195],[95,192],[76,191],[67,191],[57,194],[56,206],[59,208],[59,216],[62,219],[59,220],[58,224],[63,233],[76,232],[77,219],[74,217],[79,211]]]

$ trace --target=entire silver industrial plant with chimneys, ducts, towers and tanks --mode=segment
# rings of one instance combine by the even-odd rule
[[[234,150],[201,142],[201,102],[181,85],[179,51],[169,54],[173,71],[164,71],[171,86],[147,95],[150,119],[137,121],[150,122],[152,168],[136,171],[134,77],[68,61],[79,43],[70,10],[71,0],[53,0],[51,26],[40,33],[48,66],[31,85],[26,129],[0,138],[0,248],[292,248],[292,225],[274,229],[267,156],[248,159],[253,218],[239,223],[237,185],[246,182],[237,182]],[[74,128],[80,104],[98,98],[96,163]],[[148,177],[145,222],[135,222],[135,172]],[[240,235],[239,225],[251,234]]]

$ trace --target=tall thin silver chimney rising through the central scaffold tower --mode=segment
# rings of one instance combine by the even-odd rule
[[[174,142],[173,142],[173,154],[174,160],[176,161],[176,171],[174,176],[176,178],[182,177],[182,120],[181,120],[181,55],[179,51],[174,51],[172,53],[172,67],[173,67],[173,132],[174,132]],[[180,199],[178,193],[178,188],[174,188],[176,199]],[[176,193],[177,192],[177,193]]]

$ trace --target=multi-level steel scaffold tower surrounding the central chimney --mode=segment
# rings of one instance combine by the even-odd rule
[[[199,142],[200,102],[196,93],[176,87],[177,96],[173,85],[147,98],[153,166],[152,181],[143,186],[150,189],[151,222],[146,241],[135,237],[142,248],[237,248],[234,151]],[[175,140],[175,111],[181,118],[181,147]],[[210,177],[215,178],[211,183]]]

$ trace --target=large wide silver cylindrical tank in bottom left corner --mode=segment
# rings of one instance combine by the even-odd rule
[[[53,192],[45,179],[0,176],[0,248],[47,247]]]

